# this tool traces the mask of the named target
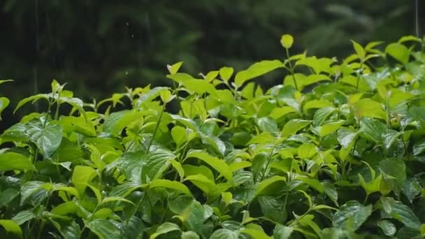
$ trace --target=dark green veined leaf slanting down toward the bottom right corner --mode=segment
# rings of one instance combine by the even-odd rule
[[[415,215],[415,213],[400,201],[394,200],[394,198],[381,198],[382,201],[382,212],[384,212],[385,218],[394,218],[398,222],[403,223],[405,226],[410,227],[419,231],[421,222]]]

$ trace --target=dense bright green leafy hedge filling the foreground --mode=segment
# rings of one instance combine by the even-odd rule
[[[93,103],[54,80],[15,108],[45,113],[1,134],[0,236],[422,238],[424,40],[353,41],[338,61],[284,35],[284,61],[201,79],[179,62],[173,87]],[[252,81],[271,71],[282,85]]]

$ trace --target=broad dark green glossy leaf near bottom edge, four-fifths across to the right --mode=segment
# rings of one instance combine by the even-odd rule
[[[358,201],[348,201],[333,215],[333,225],[347,231],[356,231],[372,214],[372,205],[364,206]]]

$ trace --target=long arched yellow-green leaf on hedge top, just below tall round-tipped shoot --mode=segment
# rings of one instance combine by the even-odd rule
[[[235,76],[235,85],[236,87],[241,87],[247,80],[256,78],[260,75],[264,75],[270,71],[282,67],[284,67],[284,64],[279,60],[259,61],[255,64],[252,64],[252,66],[246,70],[239,71]]]

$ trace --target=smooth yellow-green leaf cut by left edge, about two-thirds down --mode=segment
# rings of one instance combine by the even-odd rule
[[[6,152],[4,154],[0,154],[0,171],[10,170],[37,171],[31,161],[22,154],[17,154],[15,152]]]

